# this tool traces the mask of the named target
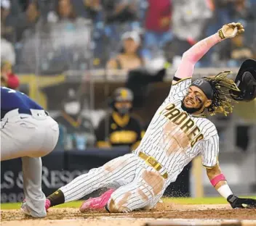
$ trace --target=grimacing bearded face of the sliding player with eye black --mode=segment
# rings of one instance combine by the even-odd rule
[[[183,99],[183,108],[190,114],[203,112],[204,108],[212,103],[204,92],[196,86],[188,88],[188,93]]]

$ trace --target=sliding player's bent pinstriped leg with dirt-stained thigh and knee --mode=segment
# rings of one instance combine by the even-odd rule
[[[155,169],[141,168],[137,178],[118,188],[111,195],[106,209],[109,212],[131,212],[152,209],[166,188],[166,180]]]

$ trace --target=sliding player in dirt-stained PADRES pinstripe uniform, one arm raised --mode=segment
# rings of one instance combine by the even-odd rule
[[[229,72],[191,83],[196,62],[215,44],[242,32],[244,28],[240,23],[223,25],[217,33],[188,49],[175,73],[169,95],[153,116],[140,146],[131,154],[76,177],[47,197],[46,208],[78,200],[115,183],[119,185],[116,191],[108,191],[107,195],[91,203],[96,203],[97,208],[105,207],[108,212],[153,209],[167,186],[198,154],[201,154],[212,186],[233,208],[256,208],[255,199],[238,198],[229,188],[217,160],[219,137],[216,127],[205,117],[207,113],[230,113],[233,99],[228,91],[239,91],[239,88],[226,78]],[[87,201],[80,211],[86,209]]]

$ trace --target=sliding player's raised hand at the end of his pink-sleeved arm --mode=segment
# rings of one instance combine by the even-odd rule
[[[233,38],[236,35],[244,33],[244,26],[240,22],[231,22],[227,25],[223,25],[223,28],[218,30],[220,38]]]

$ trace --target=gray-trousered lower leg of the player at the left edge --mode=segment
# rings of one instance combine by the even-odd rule
[[[41,191],[41,158],[23,157],[22,162],[25,202],[21,209],[32,217],[46,217],[45,196]]]

